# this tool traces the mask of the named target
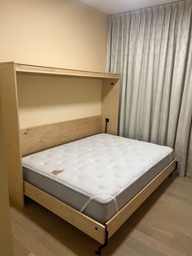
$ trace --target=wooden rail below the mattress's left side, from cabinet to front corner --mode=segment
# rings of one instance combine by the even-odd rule
[[[41,189],[36,188],[30,183],[24,182],[24,195],[37,201],[46,209],[57,214],[59,217],[71,223],[73,226],[85,232],[87,235],[94,238],[94,240],[103,244],[105,239],[105,226],[96,222],[94,219],[89,218],[85,214],[73,209],[71,206],[66,205],[53,196],[50,196]]]

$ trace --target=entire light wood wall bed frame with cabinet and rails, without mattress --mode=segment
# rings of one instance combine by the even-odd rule
[[[103,95],[101,99],[101,115],[20,130],[17,97],[18,73],[102,79]],[[174,159],[141,192],[137,193],[131,201],[107,221],[105,225],[98,223],[55,197],[50,196],[48,193],[41,191],[32,184],[24,182],[21,157],[29,153],[38,152],[59,144],[101,133],[105,129],[105,118],[109,118],[110,120],[108,132],[117,135],[120,75],[63,68],[37,67],[11,62],[0,64],[0,89],[3,136],[11,200],[15,201],[21,207],[24,207],[24,195],[37,201],[37,203],[59,215],[59,217],[102,244],[96,250],[96,254],[101,254],[101,249],[107,245],[108,239],[137,210],[139,205],[164,182],[164,179],[177,168],[177,161]]]

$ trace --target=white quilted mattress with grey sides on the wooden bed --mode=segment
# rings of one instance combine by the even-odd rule
[[[99,134],[22,163],[25,181],[104,224],[172,159],[172,148]]]

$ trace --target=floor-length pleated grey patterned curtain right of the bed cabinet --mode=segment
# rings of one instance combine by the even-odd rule
[[[192,2],[109,15],[107,71],[122,75],[120,135],[174,148],[192,176]]]

